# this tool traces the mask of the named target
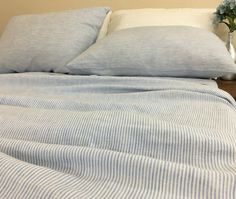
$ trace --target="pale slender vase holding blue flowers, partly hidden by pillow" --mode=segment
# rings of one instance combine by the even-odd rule
[[[236,52],[233,46],[233,32],[228,33],[228,38],[226,42],[226,48],[229,51],[231,57],[233,58],[234,62],[236,61]],[[222,80],[236,80],[236,74],[229,74],[221,77]]]

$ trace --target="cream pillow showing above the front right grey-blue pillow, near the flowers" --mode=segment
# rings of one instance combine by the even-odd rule
[[[214,9],[131,9],[111,14],[108,34],[141,26],[192,26],[213,30]]]

